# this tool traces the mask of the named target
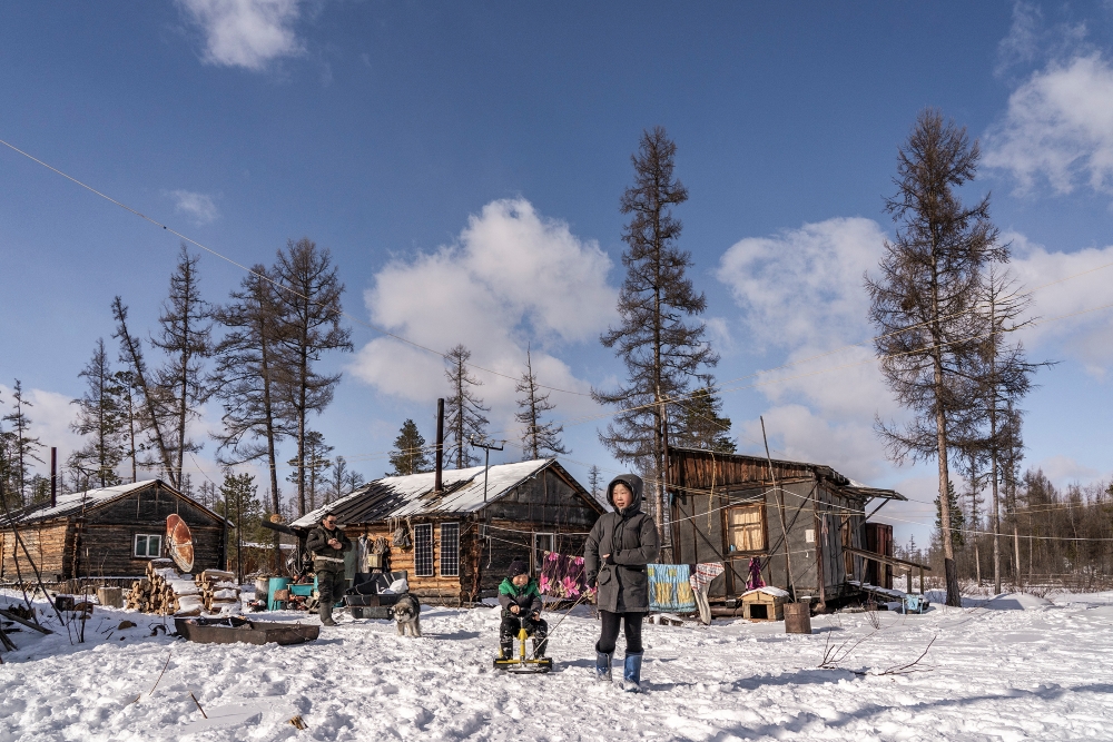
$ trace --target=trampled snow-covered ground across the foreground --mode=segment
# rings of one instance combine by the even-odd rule
[[[638,695],[592,682],[598,624],[587,613],[553,636],[556,671],[523,676],[491,666],[492,609],[427,609],[417,640],[348,621],[285,647],[150,636],[161,620],[98,609],[85,644],[65,631],[12,634],[19,651],[0,655],[0,742],[1113,739],[1113,593],[1052,600],[883,612],[879,631],[866,614],[817,617],[811,636],[786,635],[782,623],[650,625]],[[138,626],[116,630],[122,619]],[[825,646],[863,637],[843,669],[817,666]],[[933,637],[919,672],[879,674]],[[208,729],[190,731],[205,723],[190,691],[214,718]],[[307,730],[287,723],[294,714]]]

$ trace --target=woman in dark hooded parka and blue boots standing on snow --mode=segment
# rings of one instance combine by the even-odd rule
[[[660,552],[653,518],[641,512],[641,477],[620,474],[607,485],[613,513],[595,521],[583,546],[588,584],[598,588],[595,602],[602,633],[595,643],[595,676],[611,680],[611,656],[623,624],[627,653],[622,687],[637,691],[641,683],[641,622],[649,613],[649,576],[646,565]]]

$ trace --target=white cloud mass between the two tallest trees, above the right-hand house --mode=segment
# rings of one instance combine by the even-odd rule
[[[739,345],[760,348],[777,364],[794,364],[758,375],[758,390],[774,405],[765,413],[777,442],[770,445],[789,458],[829,464],[864,481],[889,471],[875,415],[903,414],[868,342],[863,277],[876,269],[884,241],[871,219],[828,219],[742,239],[722,256],[718,271],[742,309],[739,334],[748,337]],[[844,347],[855,343],[865,344]],[[812,356],[821,357],[807,360]],[[837,370],[824,370],[829,368]],[[757,421],[741,429],[760,441]]]

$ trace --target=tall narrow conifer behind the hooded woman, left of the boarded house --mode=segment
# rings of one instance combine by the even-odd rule
[[[642,133],[631,157],[634,184],[622,196],[621,211],[631,215],[622,239],[627,277],[619,294],[618,327],[600,340],[627,366],[627,383],[614,392],[593,390],[601,404],[619,408],[600,441],[621,462],[637,465],[656,482],[647,503],[668,544],[664,467],[671,399],[683,397],[692,382],[707,384],[707,369],[719,358],[705,339],[705,326],[692,318],[707,299],[687,276],[691,254],[680,249],[680,220],[672,208],[688,200],[674,178],[677,146],[664,129]]]

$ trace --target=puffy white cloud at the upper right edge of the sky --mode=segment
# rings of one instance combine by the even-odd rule
[[[1060,194],[1080,179],[1113,192],[1113,68],[1092,52],[1033,73],[989,130],[985,165],[1011,172],[1020,192],[1041,179]]]

